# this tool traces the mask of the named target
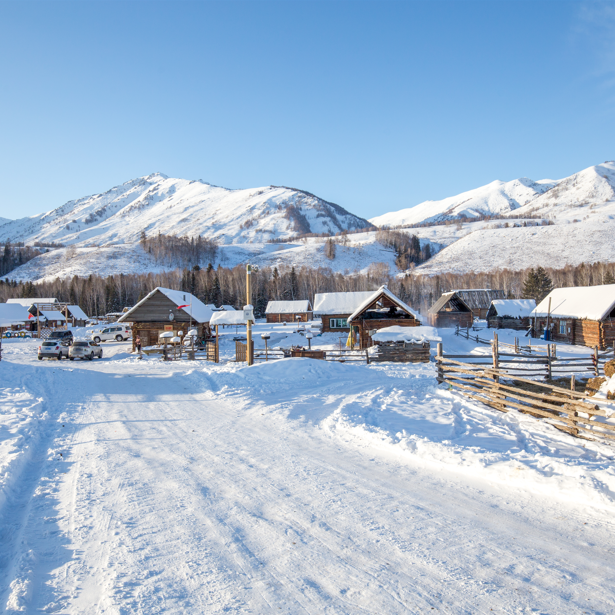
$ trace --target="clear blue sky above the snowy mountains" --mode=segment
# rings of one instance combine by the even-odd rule
[[[615,158],[614,3],[0,0],[0,216],[161,171],[371,217]]]

